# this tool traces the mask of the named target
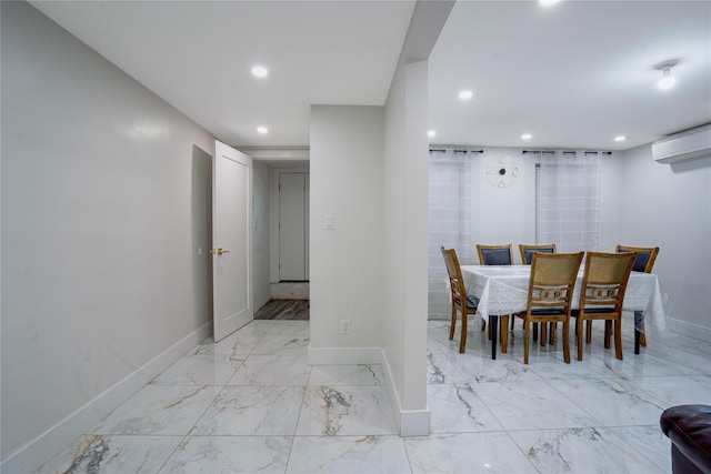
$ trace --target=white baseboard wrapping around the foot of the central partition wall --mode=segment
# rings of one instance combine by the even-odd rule
[[[402,410],[400,395],[395,389],[390,364],[382,347],[311,347],[309,365],[380,364],[385,377],[385,386],[392,405],[400,436],[428,436],[430,434],[430,411]]]

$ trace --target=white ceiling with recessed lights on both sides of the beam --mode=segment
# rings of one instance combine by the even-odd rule
[[[383,104],[414,9],[402,0],[31,3],[244,148],[308,145],[310,104]],[[654,65],[669,59],[680,61],[678,84],[660,91]],[[251,77],[257,63],[270,69],[266,80]],[[457,98],[463,88],[472,100]],[[435,144],[623,150],[708,122],[711,0],[459,1],[430,57]],[[533,138],[522,141],[524,132]]]

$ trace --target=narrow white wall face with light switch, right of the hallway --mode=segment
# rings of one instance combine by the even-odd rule
[[[381,107],[311,107],[312,362],[321,361],[319,350],[382,346],[382,113]],[[326,214],[333,215],[333,230],[324,230]],[[350,321],[350,334],[341,334],[341,320]]]

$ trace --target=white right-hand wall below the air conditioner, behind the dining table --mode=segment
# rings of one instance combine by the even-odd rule
[[[669,329],[711,341],[711,157],[663,164],[651,147],[623,153],[620,243],[659,246]]]

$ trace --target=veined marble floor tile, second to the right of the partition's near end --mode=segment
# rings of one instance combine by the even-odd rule
[[[505,430],[600,425],[548,382],[480,383],[472,387]]]

